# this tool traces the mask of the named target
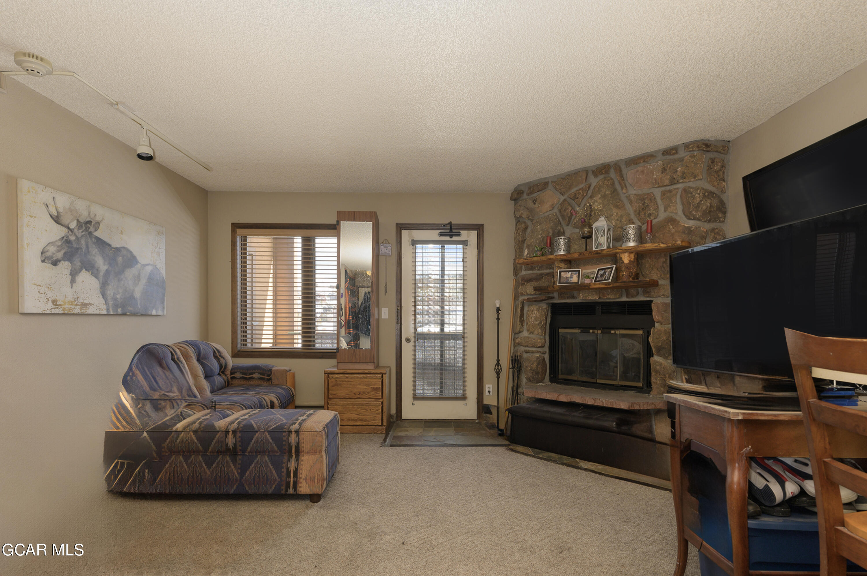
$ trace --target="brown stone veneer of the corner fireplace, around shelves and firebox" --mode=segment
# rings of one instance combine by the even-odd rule
[[[584,242],[578,228],[582,213],[590,207],[590,223],[603,215],[614,225],[616,246],[621,243],[623,226],[632,223],[641,224],[643,242],[643,224],[647,220],[653,221],[655,243],[688,240],[698,246],[722,240],[727,235],[728,154],[727,141],[699,140],[520,184],[512,192],[515,258],[532,256],[536,246],[544,246],[547,236],[570,236],[571,251],[582,250]],[[590,269],[611,263],[613,258],[600,258],[575,265]],[[548,381],[549,301],[601,298],[653,300],[652,393],[665,392],[666,382],[675,377],[671,364],[668,255],[639,256],[639,270],[641,278],[656,279],[659,286],[536,294],[535,287],[554,284],[554,267],[514,265],[518,279],[514,352],[521,354],[524,366],[519,392],[523,392],[525,384]]]

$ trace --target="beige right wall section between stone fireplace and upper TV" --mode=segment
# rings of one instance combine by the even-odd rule
[[[741,178],[867,118],[867,62],[732,140],[729,236],[750,231]]]

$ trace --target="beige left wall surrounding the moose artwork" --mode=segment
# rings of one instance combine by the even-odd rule
[[[207,193],[22,84],[8,87],[0,94],[0,540],[82,538],[76,518],[104,497],[102,433],[133,353],[206,335]],[[166,315],[18,314],[16,178],[165,226]]]

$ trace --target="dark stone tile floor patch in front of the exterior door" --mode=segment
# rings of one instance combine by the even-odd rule
[[[383,446],[508,446],[496,427],[475,420],[401,420]]]

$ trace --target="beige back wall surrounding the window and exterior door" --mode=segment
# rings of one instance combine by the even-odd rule
[[[380,241],[394,245],[394,223],[485,224],[485,383],[497,379],[493,365],[497,358],[494,301],[511,301],[514,218],[508,194],[419,194],[350,193],[304,194],[280,192],[211,192],[208,203],[208,327],[209,338],[227,349],[231,346],[231,223],[333,223],[337,210],[375,210],[380,219]],[[380,274],[388,278],[388,294],[380,283],[380,307],[388,308],[388,319],[380,320],[380,364],[394,368],[394,267],[395,256],[380,256]],[[388,270],[386,267],[388,266]],[[509,318],[503,314],[500,326],[500,359],[507,364],[505,343]],[[238,362],[270,362],[296,372],[297,403],[322,405],[323,370],[334,359],[236,359]],[[394,374],[392,375],[394,386]],[[505,371],[500,377],[505,391]],[[394,413],[394,392],[392,392]],[[494,404],[493,397],[484,397]]]

